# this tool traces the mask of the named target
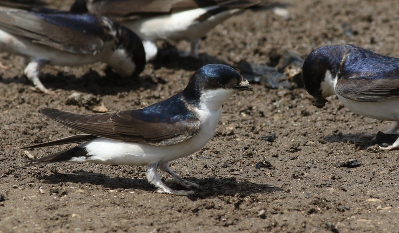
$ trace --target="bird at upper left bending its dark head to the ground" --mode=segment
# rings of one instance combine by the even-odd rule
[[[121,76],[138,75],[144,69],[145,52],[140,38],[111,19],[6,5],[20,8],[0,6],[0,50],[25,57],[24,73],[42,92],[48,92],[39,79],[40,69],[46,64],[104,62]]]

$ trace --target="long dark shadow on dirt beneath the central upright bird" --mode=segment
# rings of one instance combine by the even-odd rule
[[[60,182],[73,182],[80,184],[101,185],[109,189],[141,189],[148,192],[155,191],[156,188],[149,184],[146,179],[131,179],[124,177],[111,178],[103,174],[95,172],[77,171],[74,173],[54,173],[39,177],[48,183],[57,184]],[[241,196],[248,196],[254,193],[270,193],[275,191],[283,191],[279,187],[269,184],[257,184],[249,181],[238,182],[234,177],[230,178],[185,178],[199,184],[199,189],[194,189],[195,193],[190,195],[191,200],[204,199],[215,196],[234,196],[240,194]],[[183,187],[179,185],[170,185],[169,187],[175,190],[182,190]]]

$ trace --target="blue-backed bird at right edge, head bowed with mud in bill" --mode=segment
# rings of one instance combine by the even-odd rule
[[[322,108],[326,98],[338,99],[353,112],[384,121],[394,121],[387,133],[399,129],[399,59],[361,47],[327,45],[315,49],[303,64],[306,90]],[[388,147],[399,148],[399,138]]]

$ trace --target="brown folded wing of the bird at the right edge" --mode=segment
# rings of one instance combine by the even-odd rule
[[[357,75],[353,75],[357,76]],[[335,91],[344,98],[360,102],[376,102],[399,97],[399,76],[366,79],[342,78],[337,80]]]

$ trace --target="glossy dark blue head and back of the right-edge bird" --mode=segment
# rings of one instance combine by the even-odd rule
[[[306,90],[315,97],[315,106],[319,108],[327,102],[325,98],[332,94],[326,90],[322,93],[323,82],[331,81],[326,79],[326,71],[331,73],[329,78],[337,78],[340,88],[350,93],[348,97],[356,96],[357,85],[362,85],[360,83],[370,83],[381,78],[397,79],[399,59],[383,56],[353,44],[328,45],[315,49],[303,64],[303,80]],[[352,84],[344,84],[347,80],[351,80],[347,83]]]

